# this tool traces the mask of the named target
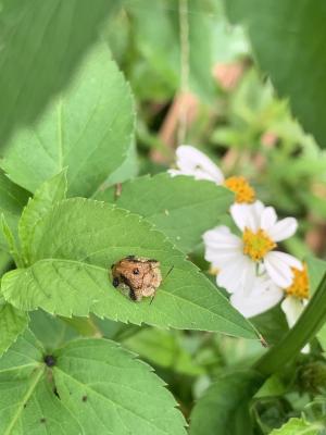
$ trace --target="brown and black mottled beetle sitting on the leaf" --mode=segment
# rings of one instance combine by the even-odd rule
[[[162,283],[160,262],[128,256],[112,265],[112,284],[134,301],[154,296]]]

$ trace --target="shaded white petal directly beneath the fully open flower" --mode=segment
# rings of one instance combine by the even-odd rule
[[[271,281],[266,282],[259,277],[249,294],[235,293],[230,297],[230,302],[244,318],[253,318],[276,306],[283,296],[284,293],[279,287],[273,285]]]

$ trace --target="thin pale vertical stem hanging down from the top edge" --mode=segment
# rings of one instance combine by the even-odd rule
[[[189,92],[189,22],[188,0],[179,0],[179,26],[180,26],[180,95]],[[185,142],[187,132],[187,107],[180,104],[178,145]]]

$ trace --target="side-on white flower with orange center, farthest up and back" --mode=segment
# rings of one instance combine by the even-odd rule
[[[176,170],[168,170],[172,176],[189,175],[196,179],[208,179],[217,185],[224,185],[236,194],[236,202],[252,203],[255,191],[242,176],[231,176],[225,179],[222,171],[203,152],[190,145],[181,145],[176,149]]]

